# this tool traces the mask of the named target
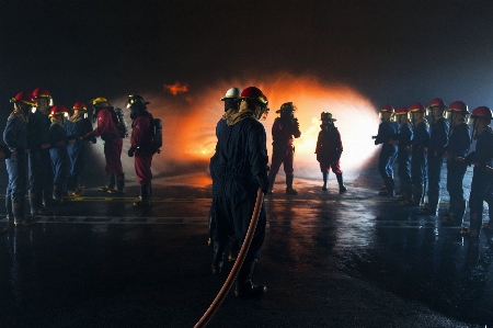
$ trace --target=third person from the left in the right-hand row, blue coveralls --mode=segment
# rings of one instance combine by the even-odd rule
[[[427,156],[426,147],[429,142],[429,125],[425,118],[426,110],[422,103],[414,103],[409,108],[413,125],[413,140],[411,143],[411,181],[413,182],[412,199],[408,205],[419,206],[424,194],[426,183]]]

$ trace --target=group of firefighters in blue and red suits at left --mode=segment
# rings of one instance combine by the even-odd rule
[[[122,168],[123,138],[127,126],[121,109],[114,109],[107,99],[92,101],[93,121],[88,108],[76,102],[71,109],[53,105],[48,90],[36,88],[20,92],[11,99],[13,111],[3,131],[4,146],[0,157],[5,158],[9,182],[5,192],[7,218],[15,225],[35,224],[36,215],[53,214],[53,206],[66,196],[80,196],[85,188],[88,143],[104,142],[106,184],[101,192],[123,194],[125,173]],[[156,140],[156,120],[147,111],[142,97],[128,98],[133,132],[128,156],[135,158],[135,170],[140,195],[135,206],[149,206],[151,201],[151,161],[159,149]],[[159,120],[158,120],[159,121]],[[160,121],[159,121],[160,122]],[[28,185],[31,216],[25,216],[24,197]]]

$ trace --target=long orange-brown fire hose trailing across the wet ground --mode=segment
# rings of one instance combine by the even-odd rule
[[[207,326],[207,324],[210,321],[210,319],[214,317],[216,312],[221,306],[222,301],[225,301],[226,296],[228,295],[228,292],[231,290],[231,286],[234,280],[237,279],[238,273],[240,272],[241,265],[243,264],[244,258],[246,257],[246,252],[249,251],[250,245],[252,244],[253,234],[255,233],[263,201],[264,201],[264,193],[262,192],[262,189],[259,188],[256,192],[255,207],[253,210],[250,226],[246,231],[246,236],[244,237],[243,245],[241,246],[240,253],[238,255],[237,260],[234,261],[234,264],[231,269],[231,272],[229,273],[228,279],[226,280],[221,290],[217,294],[216,298],[214,298],[213,303],[210,304],[206,313],[202,316],[198,323],[195,324],[194,328],[203,328]]]

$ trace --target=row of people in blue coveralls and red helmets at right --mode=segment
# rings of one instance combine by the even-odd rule
[[[374,137],[375,145],[382,145],[379,172],[383,185],[380,195],[393,197],[397,193],[392,168],[397,160],[400,180],[398,200],[410,206],[422,205],[422,214],[437,215],[442,168],[446,161],[446,185],[450,201],[442,218],[443,224],[461,224],[460,233],[471,238],[478,238],[482,227],[493,230],[493,131],[489,108],[479,106],[469,112],[462,101],[446,105],[436,98],[427,108],[422,103],[398,110],[385,105],[380,110],[380,118],[382,122]],[[470,151],[474,139],[475,150]],[[463,224],[467,207],[463,178],[471,165],[474,169],[469,195],[470,224],[467,226]],[[484,225],[483,202],[489,204],[490,214],[490,220]]]

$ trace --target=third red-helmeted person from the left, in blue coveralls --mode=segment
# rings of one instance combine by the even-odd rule
[[[65,122],[68,117],[68,110],[64,105],[55,105],[49,112],[51,125],[49,126],[49,156],[53,168],[53,201],[55,204],[64,202],[62,193],[67,183],[68,152],[67,152],[67,131]]]

